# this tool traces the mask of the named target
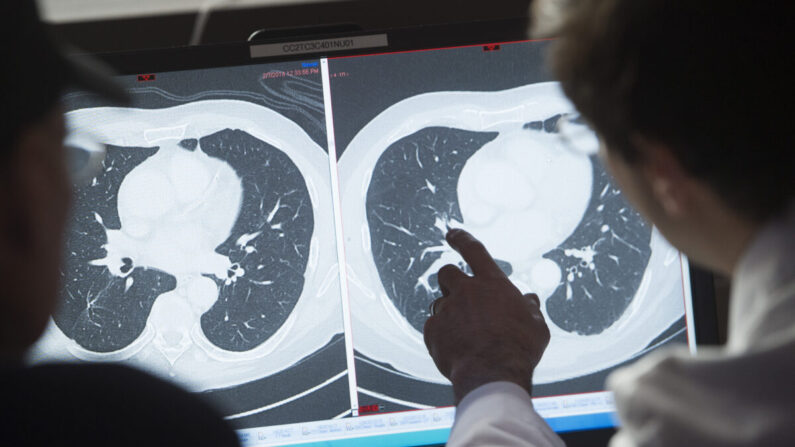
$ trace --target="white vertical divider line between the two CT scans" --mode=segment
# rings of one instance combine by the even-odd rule
[[[326,115],[326,143],[329,155],[329,174],[331,176],[331,197],[334,204],[334,232],[337,235],[337,264],[340,274],[340,294],[342,296],[342,330],[345,337],[345,357],[348,362],[348,387],[351,396],[351,414],[359,415],[359,393],[356,384],[356,366],[353,358],[353,333],[351,331],[351,306],[348,296],[348,271],[345,263],[345,238],[342,231],[342,208],[340,206],[340,182],[337,170],[337,146],[334,138],[334,116],[331,107],[331,81],[329,79],[328,58],[320,59],[320,74],[323,78],[323,106]]]

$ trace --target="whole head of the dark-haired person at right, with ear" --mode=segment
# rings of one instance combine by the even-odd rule
[[[537,0],[533,17],[628,199],[731,274],[795,192],[788,16],[772,2]]]

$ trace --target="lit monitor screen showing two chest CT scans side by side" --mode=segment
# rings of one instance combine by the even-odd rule
[[[607,374],[695,349],[690,270],[605,172],[547,46],[127,74],[125,108],[68,94],[67,146],[106,156],[75,184],[31,362],[146,370],[245,446],[444,443],[453,394],[422,327],[438,269],[467,270],[459,227],[541,298],[537,411],[614,426]]]

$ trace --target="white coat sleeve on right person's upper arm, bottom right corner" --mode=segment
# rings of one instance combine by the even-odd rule
[[[704,351],[656,352],[609,377],[622,425],[610,447],[795,445],[795,344]]]

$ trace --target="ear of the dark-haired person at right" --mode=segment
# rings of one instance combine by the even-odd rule
[[[652,196],[670,218],[681,218],[692,202],[690,175],[666,144],[643,137],[632,142],[641,152],[641,171]]]

